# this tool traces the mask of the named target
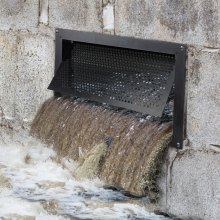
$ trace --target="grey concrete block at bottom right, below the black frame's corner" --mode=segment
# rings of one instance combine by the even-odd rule
[[[219,220],[220,153],[213,150],[170,152],[160,205],[181,218]]]

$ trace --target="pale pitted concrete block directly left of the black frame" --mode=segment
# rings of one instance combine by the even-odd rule
[[[18,35],[17,43],[15,115],[31,122],[52,95],[47,87],[54,74],[54,42],[50,37],[24,32]]]

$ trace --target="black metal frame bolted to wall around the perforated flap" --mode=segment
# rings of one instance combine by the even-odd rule
[[[173,138],[172,145],[178,149],[183,146],[185,138],[185,80],[186,80],[186,45],[157,40],[143,40],[130,37],[112,36],[94,32],[56,29],[55,36],[55,74],[63,60],[63,41],[82,42],[104,46],[164,53],[175,56],[175,92],[173,109]]]

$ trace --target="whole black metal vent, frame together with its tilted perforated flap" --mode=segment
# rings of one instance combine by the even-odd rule
[[[57,29],[55,58],[49,89],[64,96],[161,116],[174,85],[173,144],[182,148],[185,45]]]

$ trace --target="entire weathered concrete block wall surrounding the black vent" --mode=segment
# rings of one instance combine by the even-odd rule
[[[187,141],[168,154],[160,205],[219,219],[219,0],[1,0],[0,11],[0,124],[11,127],[52,95],[55,27],[187,44]]]

